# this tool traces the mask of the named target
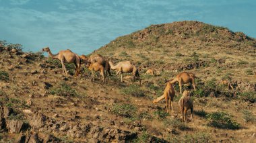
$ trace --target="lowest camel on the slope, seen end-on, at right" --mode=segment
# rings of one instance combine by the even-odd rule
[[[185,124],[187,123],[187,110],[190,109],[190,111],[191,111],[191,120],[194,124],[194,120],[193,120],[193,101],[190,99],[189,91],[185,90],[183,92],[183,96],[179,100],[179,107],[181,109],[182,121],[185,122]]]

